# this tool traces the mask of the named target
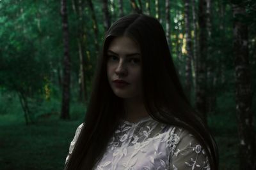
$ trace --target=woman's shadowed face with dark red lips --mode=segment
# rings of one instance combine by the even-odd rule
[[[115,95],[124,99],[141,97],[141,52],[138,44],[127,36],[118,36],[109,44],[107,55],[108,81]]]

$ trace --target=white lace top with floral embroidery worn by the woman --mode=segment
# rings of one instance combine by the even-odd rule
[[[69,155],[83,124],[70,143]],[[151,117],[137,123],[123,121],[108,143],[97,170],[210,170],[204,148],[188,131],[157,122]]]

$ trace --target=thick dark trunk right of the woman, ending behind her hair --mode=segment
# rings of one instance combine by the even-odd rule
[[[196,76],[196,110],[202,115],[207,123],[206,110],[206,59],[207,59],[207,26],[206,26],[206,0],[199,1],[198,23],[199,23],[199,55],[198,55],[198,75]]]

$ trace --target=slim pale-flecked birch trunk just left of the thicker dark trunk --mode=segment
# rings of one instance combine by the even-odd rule
[[[190,0],[185,0],[184,20],[185,20],[185,39],[186,39],[186,69],[185,69],[185,90],[189,101],[191,100],[191,82],[192,82],[192,71],[191,71],[191,60],[193,58],[192,52],[192,41],[191,41],[191,29],[190,29]]]

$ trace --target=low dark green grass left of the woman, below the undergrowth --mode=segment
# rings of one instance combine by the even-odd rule
[[[63,169],[77,125],[78,121],[57,119],[34,125],[0,125],[1,169]]]

